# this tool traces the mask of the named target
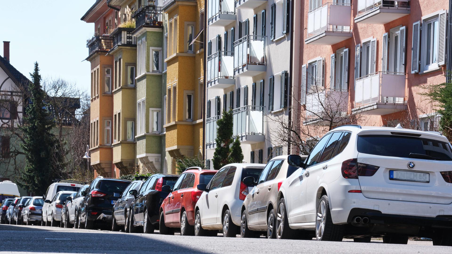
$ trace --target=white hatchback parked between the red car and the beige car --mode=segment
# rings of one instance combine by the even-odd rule
[[[253,185],[246,185],[243,179],[253,177],[256,181],[265,164],[232,163],[222,167],[209,184],[198,184],[204,191],[195,206],[195,235],[209,235],[207,230],[223,236],[239,234],[242,203]]]

